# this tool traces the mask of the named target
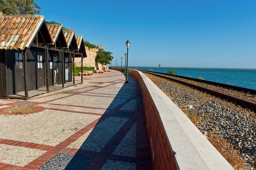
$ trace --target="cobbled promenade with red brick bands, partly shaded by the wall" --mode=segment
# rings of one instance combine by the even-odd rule
[[[31,100],[0,99],[0,169],[150,169],[139,87],[124,81],[113,70]]]

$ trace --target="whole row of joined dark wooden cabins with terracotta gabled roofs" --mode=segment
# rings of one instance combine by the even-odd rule
[[[72,85],[74,57],[83,63],[83,47],[82,36],[44,16],[0,16],[0,98],[27,100]]]

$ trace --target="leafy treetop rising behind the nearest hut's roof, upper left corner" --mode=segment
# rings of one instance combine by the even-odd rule
[[[0,11],[6,15],[39,14],[40,9],[34,0],[0,0]]]

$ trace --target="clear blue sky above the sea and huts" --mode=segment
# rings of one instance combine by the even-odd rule
[[[256,68],[255,0],[35,2],[117,65],[129,39],[130,66]]]

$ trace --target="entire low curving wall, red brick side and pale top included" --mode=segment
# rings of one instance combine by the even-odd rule
[[[128,72],[140,86],[153,169],[233,169],[147,76],[138,70]]]

